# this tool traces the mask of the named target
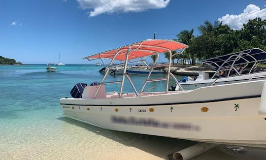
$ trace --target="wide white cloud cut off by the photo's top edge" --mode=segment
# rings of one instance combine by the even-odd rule
[[[80,8],[93,9],[90,17],[102,13],[140,12],[147,9],[165,8],[170,0],[77,0]]]

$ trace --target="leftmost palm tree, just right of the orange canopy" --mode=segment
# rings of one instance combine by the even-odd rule
[[[184,43],[186,45],[189,45],[191,40],[195,37],[193,35],[193,32],[194,32],[193,29],[191,29],[190,31],[188,31],[188,30],[181,31],[179,34],[176,35],[178,37],[178,41],[181,43]],[[195,61],[194,53],[190,52],[189,48],[185,52],[190,56],[190,58],[192,60],[192,65],[195,65],[196,61]]]

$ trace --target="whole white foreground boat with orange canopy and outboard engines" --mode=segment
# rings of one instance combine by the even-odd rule
[[[144,40],[116,48],[87,59],[109,58],[124,62],[120,81],[77,84],[73,98],[61,98],[64,114],[72,119],[100,128],[166,136],[193,141],[266,148],[266,80],[201,87],[184,91],[170,72],[171,57],[182,53],[187,45],[172,40]],[[179,51],[172,54],[172,51]],[[150,79],[155,64],[140,91],[126,73],[129,60],[169,52],[166,77]],[[159,57],[159,56],[157,56]],[[162,66],[160,65],[160,66]],[[168,91],[173,79],[180,91]],[[128,80],[133,93],[123,92]],[[150,82],[163,81],[160,92],[146,92]],[[106,92],[105,86],[120,84],[117,92]],[[82,91],[84,90],[84,91]]]

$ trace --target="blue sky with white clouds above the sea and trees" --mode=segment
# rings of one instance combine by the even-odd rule
[[[174,39],[205,20],[239,30],[266,0],[0,0],[0,56],[23,64],[82,60],[144,39]]]

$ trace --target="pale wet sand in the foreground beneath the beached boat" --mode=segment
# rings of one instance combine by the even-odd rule
[[[58,120],[62,125],[59,128],[38,126],[5,137],[9,141],[0,145],[0,159],[172,160],[171,154],[197,143],[107,130],[66,117]],[[191,160],[265,160],[265,157],[266,150],[220,145]]]

